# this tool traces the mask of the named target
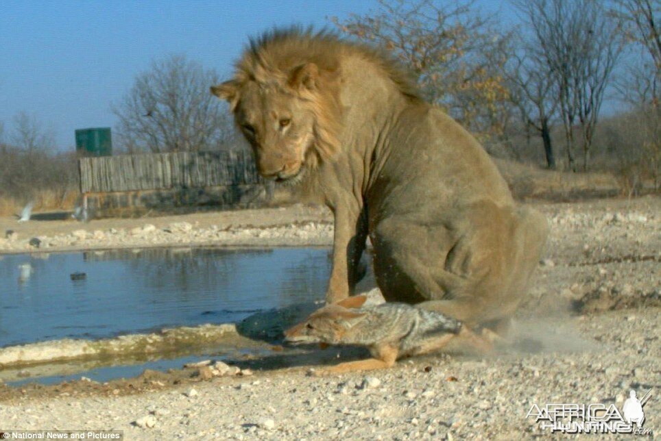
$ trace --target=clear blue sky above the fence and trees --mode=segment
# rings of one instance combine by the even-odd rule
[[[496,12],[498,2],[480,2]],[[274,25],[330,26],[375,0],[35,1],[0,3],[0,122],[34,115],[72,149],[73,131],[114,127],[118,102],[152,60],[182,53],[227,76],[249,36]]]

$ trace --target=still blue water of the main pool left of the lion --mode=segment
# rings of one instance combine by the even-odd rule
[[[19,265],[32,268],[24,281]],[[328,251],[310,248],[10,255],[0,261],[0,347],[233,322],[322,299],[329,270]]]

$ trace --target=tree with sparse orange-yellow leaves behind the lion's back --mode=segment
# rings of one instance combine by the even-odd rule
[[[391,51],[409,66],[429,101],[478,134],[503,131],[508,90],[501,76],[509,34],[483,18],[474,0],[379,0],[379,8],[344,22],[342,31]]]

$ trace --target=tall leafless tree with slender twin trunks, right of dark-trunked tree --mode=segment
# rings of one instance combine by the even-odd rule
[[[580,127],[583,168],[588,169],[592,138],[605,90],[622,50],[618,23],[596,0],[513,0],[536,38],[557,81],[568,165],[576,171],[575,125]]]

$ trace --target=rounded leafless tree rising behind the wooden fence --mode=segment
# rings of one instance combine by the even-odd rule
[[[128,151],[219,149],[232,140],[230,119],[208,92],[219,76],[182,55],[153,62],[112,112]]]

